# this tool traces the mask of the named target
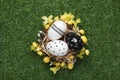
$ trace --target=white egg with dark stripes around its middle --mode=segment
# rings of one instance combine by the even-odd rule
[[[50,40],[57,40],[61,38],[67,30],[67,25],[63,21],[55,21],[48,30],[48,38]]]

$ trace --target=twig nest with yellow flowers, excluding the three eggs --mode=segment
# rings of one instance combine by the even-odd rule
[[[85,45],[87,44],[87,37],[84,36],[85,31],[78,26],[79,23],[81,23],[80,18],[77,18],[75,20],[75,16],[72,13],[67,13],[65,12],[63,15],[53,17],[53,15],[50,15],[49,17],[43,16],[42,19],[43,21],[43,31],[40,31],[40,33],[44,34],[42,35],[42,39],[40,38],[38,42],[33,42],[31,45],[31,50],[36,52],[39,56],[42,56],[43,62],[49,64],[50,70],[53,72],[53,74],[56,74],[58,70],[61,68],[65,69],[73,69],[74,64],[76,62],[76,59],[82,59],[83,56],[88,56],[89,55],[89,50],[86,49],[85,46],[77,52],[77,54],[74,54],[74,51],[69,51],[67,55],[62,56],[62,57],[55,57],[51,54],[49,54],[46,49],[45,49],[45,44],[48,43],[47,41],[47,36],[46,36],[46,31],[49,29],[51,24],[54,21],[57,20],[62,20],[64,21],[67,26],[70,28],[72,26],[72,31],[80,35],[83,43]]]

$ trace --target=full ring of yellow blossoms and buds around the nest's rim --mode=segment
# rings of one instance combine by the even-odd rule
[[[78,23],[81,22],[80,18],[75,20],[75,16],[70,12],[69,13],[65,12],[63,15],[56,16],[56,17],[53,17],[53,15],[50,15],[48,17],[43,16],[42,19],[44,20],[43,21],[43,26],[46,30],[48,30],[49,27],[51,26],[51,24],[54,21],[57,21],[57,20],[62,20],[68,25],[74,25],[74,28],[76,28],[76,29],[78,28]],[[83,29],[80,29],[80,30],[78,30],[78,33],[80,34],[80,37],[81,37],[83,43],[87,44],[88,39],[87,39],[86,36],[84,36],[85,31]],[[73,67],[74,67],[74,61],[73,60],[76,59],[76,57],[82,59],[84,55],[88,56],[90,54],[89,50],[86,49],[85,47],[83,47],[79,51],[79,53],[77,53],[77,55],[75,55],[75,54],[69,55],[67,57],[68,62],[64,62],[64,61],[53,61],[52,58],[49,55],[45,54],[42,51],[41,45],[38,44],[37,42],[32,43],[31,50],[37,52],[37,54],[39,56],[43,56],[43,62],[44,63],[46,63],[46,64],[50,63],[50,65],[52,65],[52,67],[50,68],[50,71],[52,71],[53,74],[56,74],[57,71],[60,70],[60,68],[67,68],[69,70],[73,69]]]

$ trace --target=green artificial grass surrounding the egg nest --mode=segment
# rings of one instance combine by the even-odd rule
[[[119,80],[119,0],[0,0],[0,80]],[[91,55],[56,75],[30,51],[41,17],[72,12],[81,18]]]

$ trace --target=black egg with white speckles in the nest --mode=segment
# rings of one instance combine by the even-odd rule
[[[66,43],[71,50],[79,51],[83,47],[83,41],[76,33],[70,32],[66,34]]]

